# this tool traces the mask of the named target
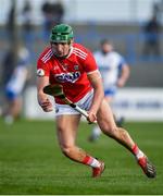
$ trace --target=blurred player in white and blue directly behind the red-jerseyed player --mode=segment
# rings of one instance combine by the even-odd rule
[[[109,103],[112,102],[117,87],[123,87],[129,77],[129,66],[125,59],[113,50],[113,45],[108,39],[102,39],[100,50],[93,53],[93,57],[99,66],[104,87],[104,97]],[[123,117],[115,118],[115,122],[118,126],[122,126]],[[93,142],[99,138],[101,131],[99,126],[95,126],[89,140]]]

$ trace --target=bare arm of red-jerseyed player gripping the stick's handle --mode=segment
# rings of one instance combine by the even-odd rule
[[[92,98],[91,107],[88,111],[89,114],[88,120],[90,122],[93,122],[97,120],[97,112],[104,97],[104,93],[103,93],[101,74],[98,70],[92,73],[89,73],[87,76],[93,88],[93,98]]]

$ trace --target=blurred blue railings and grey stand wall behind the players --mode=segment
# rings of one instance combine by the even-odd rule
[[[71,24],[74,28],[75,41],[85,45],[91,51],[99,49],[102,38],[113,41],[115,50],[122,53],[129,63],[131,75],[127,86],[162,87],[163,79],[163,34],[160,34],[160,56],[145,56],[146,36],[138,24],[98,25],[87,23],[83,25]],[[34,26],[30,33],[16,28],[20,42],[24,42],[30,51],[32,77],[29,85],[35,85],[36,62],[43,48],[49,45],[49,34],[42,32],[42,26]],[[0,28],[0,66],[10,47],[9,35],[5,28]],[[0,68],[0,75],[1,75]],[[1,77],[0,77],[1,82]]]

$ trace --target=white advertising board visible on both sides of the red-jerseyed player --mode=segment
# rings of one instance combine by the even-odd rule
[[[112,107],[115,114],[126,121],[163,121],[163,89],[120,89]],[[28,119],[54,119],[54,111],[43,112],[38,106],[35,86],[25,91],[24,115]]]

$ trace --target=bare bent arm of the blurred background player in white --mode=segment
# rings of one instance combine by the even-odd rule
[[[127,63],[123,64],[121,70],[121,75],[117,79],[118,87],[123,87],[126,84],[129,74],[130,74],[129,65]]]

